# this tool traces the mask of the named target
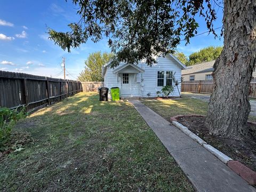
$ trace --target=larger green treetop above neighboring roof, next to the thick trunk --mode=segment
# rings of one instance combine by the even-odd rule
[[[187,65],[195,65],[197,63],[215,60],[220,56],[222,49],[222,46],[209,46],[197,52],[191,53],[189,55]]]

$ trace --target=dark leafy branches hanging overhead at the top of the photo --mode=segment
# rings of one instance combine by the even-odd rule
[[[217,3],[218,0],[216,0]],[[216,2],[214,1],[214,2]],[[217,19],[210,0],[73,0],[79,22],[70,23],[70,31],[58,32],[49,28],[50,39],[62,49],[70,51],[88,39],[98,42],[108,38],[108,45],[119,62],[138,63],[145,59],[148,65],[155,56],[173,53],[181,36],[186,43],[197,34],[196,17],[205,19],[206,27],[215,36],[213,22]]]

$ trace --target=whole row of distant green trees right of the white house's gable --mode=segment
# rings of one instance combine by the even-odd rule
[[[188,57],[184,53],[178,51],[176,51],[174,55],[186,66],[191,66],[197,63],[217,59],[220,56],[222,49],[222,46],[209,46],[197,52],[191,53]]]

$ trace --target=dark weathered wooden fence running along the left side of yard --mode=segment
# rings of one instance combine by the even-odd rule
[[[27,106],[31,110],[80,91],[78,81],[0,71],[0,107]]]

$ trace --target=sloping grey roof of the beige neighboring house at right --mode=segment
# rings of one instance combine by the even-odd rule
[[[215,60],[193,65],[185,70],[182,70],[181,75],[211,72],[214,70],[213,69],[214,62]]]

